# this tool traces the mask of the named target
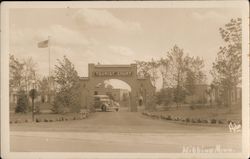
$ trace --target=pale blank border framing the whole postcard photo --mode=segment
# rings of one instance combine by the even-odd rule
[[[9,150],[9,10],[11,8],[239,8],[242,10],[242,153],[48,153]],[[1,157],[3,158],[247,158],[249,157],[249,19],[247,1],[3,2],[1,5]]]

